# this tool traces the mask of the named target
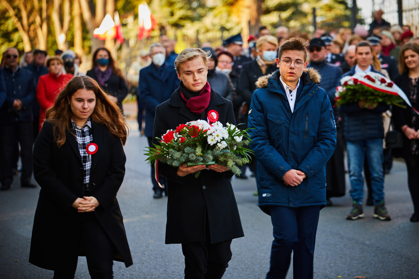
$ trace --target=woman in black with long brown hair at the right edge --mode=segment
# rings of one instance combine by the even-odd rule
[[[400,50],[399,70],[401,76],[395,83],[409,98],[413,108],[419,110],[419,45],[406,43]],[[406,105],[406,104],[404,104]],[[419,115],[406,106],[394,106],[394,127],[403,132],[403,158],[407,167],[407,185],[413,201],[411,222],[419,221]]]

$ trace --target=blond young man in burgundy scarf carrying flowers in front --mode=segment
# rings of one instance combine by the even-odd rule
[[[214,111],[222,124],[235,124],[231,101],[207,82],[207,52],[186,48],[176,58],[175,68],[180,86],[156,108],[155,138],[180,124],[206,121]],[[167,178],[166,244],[182,244],[185,279],[221,278],[232,257],[232,239],[244,236],[230,183],[233,172],[217,164],[183,164],[178,168],[162,162],[157,165]],[[201,171],[199,177],[194,176],[197,171]]]

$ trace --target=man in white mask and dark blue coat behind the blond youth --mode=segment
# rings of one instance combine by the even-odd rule
[[[144,133],[149,140],[149,146],[152,147],[155,109],[157,105],[166,101],[171,93],[178,88],[179,80],[173,65],[170,66],[165,62],[166,49],[162,44],[156,43],[151,45],[150,57],[152,59],[150,66],[140,70],[138,95],[146,109]],[[159,181],[162,185],[166,184],[163,176],[160,177]],[[154,179],[153,168],[151,168],[151,182],[154,191],[153,198],[163,197],[163,189]]]

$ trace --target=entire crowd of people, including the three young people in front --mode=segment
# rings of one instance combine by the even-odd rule
[[[0,70],[0,182],[1,190],[10,189],[20,158],[20,185],[36,187],[34,173],[41,186],[31,263],[54,270],[54,278],[73,278],[81,248],[92,278],[113,278],[113,260],[132,264],[116,200],[127,138],[122,102],[129,92],[137,96],[140,135],[150,147],[169,129],[206,120],[210,110],[222,124],[251,128],[254,155],[236,179],[249,179],[250,169],[259,207],[272,220],[267,278],[285,278],[292,252],[294,278],[312,278],[319,211],[348,192],[345,152],[352,198],[346,218],[365,217],[365,180],[373,217],[391,220],[384,179],[393,155],[383,147],[389,119],[403,135],[410,221],[419,221],[419,38],[382,16],[375,12],[368,31],[319,28],[309,36],[261,27],[247,44],[239,33],[222,46],[204,43],[179,55],[176,41],[164,37],[140,52],[126,78],[105,47],[94,51],[85,74],[71,50],[47,57],[36,49],[19,62],[18,50],[8,48]],[[365,101],[337,108],[341,78],[369,72],[393,80],[417,111]],[[232,239],[243,236],[233,173],[222,165],[157,165],[153,198],[168,197],[166,243],[182,244],[185,278],[221,278]],[[69,169],[77,175],[68,176]],[[51,213],[54,199],[60,210]],[[46,229],[50,218],[66,222]],[[70,241],[60,241],[62,233]],[[63,250],[66,261],[51,257]]]

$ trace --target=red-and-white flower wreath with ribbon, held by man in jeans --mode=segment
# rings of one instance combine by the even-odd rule
[[[335,100],[339,107],[344,104],[365,102],[365,107],[376,107],[378,103],[402,107],[402,90],[388,78],[369,72],[343,77],[336,88]]]

